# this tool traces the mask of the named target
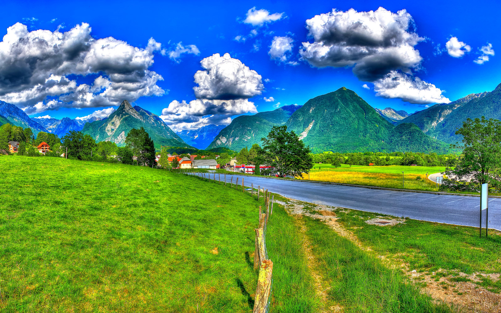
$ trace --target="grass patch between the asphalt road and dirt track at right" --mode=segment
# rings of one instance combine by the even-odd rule
[[[366,220],[381,214],[342,209],[336,210],[342,225],[355,233],[366,246],[396,263],[409,264],[409,270],[432,273],[454,281],[457,272],[501,272],[501,233],[489,231],[487,238],[478,236],[478,228],[406,219],[405,224],[391,227],[369,225]],[[485,234],[485,232],[483,233]],[[444,244],[446,243],[446,244]],[[482,278],[479,285],[501,292],[501,281]]]

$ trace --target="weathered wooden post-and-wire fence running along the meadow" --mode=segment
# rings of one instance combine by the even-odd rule
[[[181,173],[186,175],[192,175],[200,179],[207,179],[209,181],[213,181],[218,184],[227,185],[228,181],[226,180],[226,174],[221,177],[220,173],[204,173],[204,172],[193,172],[193,171],[181,171]],[[213,175],[211,175],[213,174]],[[211,177],[212,176],[212,177]],[[221,180],[222,178],[222,180]],[[244,186],[244,178],[242,177],[241,183],[238,183],[239,177],[236,178],[235,183],[233,184],[233,176],[231,175],[231,179],[229,181],[229,187],[234,187],[239,190],[241,186],[242,192],[250,191],[250,195],[254,197],[254,184],[251,184],[250,188],[245,188]],[[259,270],[258,274],[258,285],[256,287],[256,295],[254,300],[254,308],[253,313],[268,313],[270,311],[271,302],[272,302],[272,290],[273,290],[273,262],[268,258],[268,247],[266,244],[266,234],[268,230],[268,220],[270,216],[273,214],[273,203],[274,196],[271,196],[271,192],[268,192],[268,189],[265,191],[264,188],[258,186],[257,190],[257,200],[260,199],[260,193],[263,195],[265,199],[264,208],[259,206],[259,224],[258,228],[255,229],[256,232],[256,241],[255,241],[255,250],[254,250],[254,269]]]

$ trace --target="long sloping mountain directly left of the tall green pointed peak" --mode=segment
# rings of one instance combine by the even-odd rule
[[[300,107],[289,105],[273,111],[236,117],[219,132],[205,150],[217,147],[225,147],[233,151],[240,151],[245,147],[250,149],[255,143],[261,144],[261,138],[266,137],[273,126],[284,125]]]

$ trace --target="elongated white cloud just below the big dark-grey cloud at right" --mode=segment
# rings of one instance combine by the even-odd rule
[[[376,96],[386,99],[399,98],[413,104],[449,103],[435,85],[411,76],[392,71],[374,82]]]

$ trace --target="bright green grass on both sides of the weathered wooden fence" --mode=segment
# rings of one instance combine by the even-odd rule
[[[63,158],[0,156],[0,168],[0,311],[252,311],[261,203],[241,189]],[[296,230],[277,212],[275,311],[313,309]]]

